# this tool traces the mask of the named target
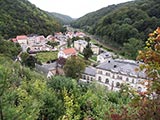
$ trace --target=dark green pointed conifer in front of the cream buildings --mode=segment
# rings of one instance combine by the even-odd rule
[[[84,48],[84,50],[83,50],[83,55],[84,55],[86,60],[88,60],[88,58],[93,55],[93,51],[91,49],[91,45],[90,45],[89,42],[88,42],[87,46]]]

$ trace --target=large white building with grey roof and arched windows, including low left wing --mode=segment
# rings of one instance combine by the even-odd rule
[[[127,84],[138,92],[145,92],[146,87],[142,85],[142,82],[146,81],[146,75],[143,71],[136,71],[137,68],[139,68],[139,63],[135,61],[112,59],[101,63],[95,69],[86,68],[82,79],[89,82],[92,81],[92,76],[94,80],[107,86],[109,90],[117,91],[121,84]],[[95,71],[94,76],[91,74],[93,70]]]

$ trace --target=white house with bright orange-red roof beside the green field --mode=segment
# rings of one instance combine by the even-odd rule
[[[67,48],[58,52],[58,58],[68,58],[70,56],[76,56],[77,51],[74,48]]]

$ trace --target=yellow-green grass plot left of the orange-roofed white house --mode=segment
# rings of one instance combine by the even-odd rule
[[[36,58],[41,63],[45,63],[47,61],[57,59],[58,58],[58,52],[57,51],[55,51],[55,52],[40,52],[40,53],[36,54]]]

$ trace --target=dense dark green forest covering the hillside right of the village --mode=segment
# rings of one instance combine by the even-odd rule
[[[139,44],[138,48],[142,48],[147,35],[160,26],[159,11],[158,0],[135,0],[89,13],[72,26],[100,36],[101,42],[121,48],[123,55],[135,59],[137,52],[131,56],[129,53],[135,52],[134,48]],[[136,44],[132,46],[132,43]]]

